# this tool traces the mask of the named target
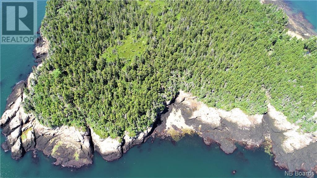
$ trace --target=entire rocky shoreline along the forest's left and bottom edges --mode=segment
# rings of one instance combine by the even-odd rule
[[[40,37],[34,56],[42,61],[49,55],[48,50],[48,41]],[[185,134],[197,134],[207,145],[217,143],[228,154],[236,149],[236,143],[248,149],[265,144],[274,155],[276,166],[317,173],[317,133],[299,133],[298,127],[289,123],[269,103],[266,114],[250,116],[239,108],[224,111],[208,107],[197,97],[180,91],[153,126],[144,132],[134,137],[126,132],[122,138],[100,138],[90,128],[45,127],[34,115],[25,113],[22,102],[27,96],[23,90],[24,87],[31,89],[33,78],[31,73],[27,81],[21,81],[13,88],[0,120],[2,133],[7,137],[1,147],[10,150],[14,159],[22,158],[27,151],[41,150],[56,159],[55,165],[79,168],[92,163],[94,151],[105,160],[113,161],[149,137],[178,141]]]

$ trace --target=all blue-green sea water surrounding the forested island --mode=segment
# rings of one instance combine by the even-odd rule
[[[316,1],[296,1],[296,4],[296,10],[303,11],[316,27]],[[38,26],[45,5],[46,1],[37,3]],[[1,45],[0,49],[2,115],[13,86],[25,80],[36,63],[32,56],[34,45]],[[0,142],[4,140],[1,134]],[[177,143],[149,139],[113,162],[106,162],[95,153],[94,163],[79,169],[55,166],[52,164],[55,159],[41,151],[37,155],[33,158],[32,152],[28,152],[16,161],[10,152],[1,149],[0,177],[286,177],[285,170],[276,167],[262,148],[247,150],[238,146],[227,155],[216,144],[205,145],[198,136],[186,136]],[[234,175],[233,170],[236,170]]]

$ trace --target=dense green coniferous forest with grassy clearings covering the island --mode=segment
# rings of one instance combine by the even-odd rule
[[[287,35],[259,1],[48,1],[49,58],[24,107],[47,126],[101,137],[151,125],[179,90],[210,107],[263,114],[269,101],[317,130],[317,37]]]

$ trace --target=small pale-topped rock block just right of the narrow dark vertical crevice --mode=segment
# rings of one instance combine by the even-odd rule
[[[94,148],[100,153],[103,159],[114,161],[122,156],[121,142],[118,138],[100,138],[93,130],[91,137],[94,143]]]

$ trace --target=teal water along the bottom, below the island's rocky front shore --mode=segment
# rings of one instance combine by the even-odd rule
[[[51,163],[54,159],[40,151],[36,159],[31,152],[19,161],[12,160],[10,153],[1,152],[1,157],[9,159],[1,161],[3,177],[285,177],[284,170],[274,166],[262,149],[238,146],[227,155],[216,144],[205,145],[198,136],[187,136],[177,143],[148,140],[113,162],[95,153],[94,163],[80,169],[55,166]]]

